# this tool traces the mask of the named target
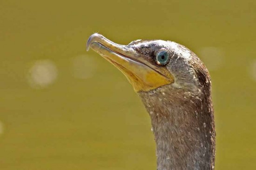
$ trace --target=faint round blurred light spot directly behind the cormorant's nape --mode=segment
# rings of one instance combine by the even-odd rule
[[[224,65],[224,52],[217,47],[203,47],[198,56],[210,71],[215,71]]]

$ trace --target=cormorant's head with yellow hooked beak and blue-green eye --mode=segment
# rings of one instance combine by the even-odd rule
[[[87,42],[103,58],[115,65],[133,85],[135,92],[161,86],[198,89],[202,73],[208,72],[200,59],[185,46],[164,40],[135,40],[116,44],[94,33]],[[205,80],[205,76],[204,79]]]

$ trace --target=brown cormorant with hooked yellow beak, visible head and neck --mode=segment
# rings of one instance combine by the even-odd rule
[[[213,170],[215,123],[211,80],[185,46],[135,40],[127,46],[94,33],[87,42],[133,85],[151,118],[157,170]]]

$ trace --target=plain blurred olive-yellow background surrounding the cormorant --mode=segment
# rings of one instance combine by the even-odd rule
[[[0,170],[155,170],[150,119],[85,45],[176,41],[209,68],[216,170],[256,169],[255,0],[0,2]]]

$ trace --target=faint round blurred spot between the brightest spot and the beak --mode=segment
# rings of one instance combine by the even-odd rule
[[[79,55],[73,59],[73,75],[75,78],[90,78],[94,75],[96,68],[94,59],[86,55]]]

